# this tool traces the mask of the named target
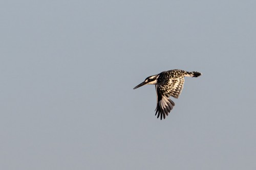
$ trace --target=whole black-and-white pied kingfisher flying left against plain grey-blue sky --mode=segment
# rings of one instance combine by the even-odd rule
[[[170,96],[178,99],[184,84],[184,77],[199,77],[201,72],[198,71],[184,71],[181,69],[172,69],[163,71],[160,74],[147,77],[144,82],[140,83],[133,89],[139,88],[146,84],[154,84],[157,94],[157,118],[165,119],[169,112],[174,108],[175,103],[169,99]]]

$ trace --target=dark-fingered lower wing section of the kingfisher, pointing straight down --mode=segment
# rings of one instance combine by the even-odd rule
[[[173,109],[175,106],[174,102],[168,98],[168,94],[164,90],[163,86],[156,85],[156,92],[157,92],[157,107],[156,107],[156,114],[157,118],[161,115],[160,119],[162,120],[162,117],[165,118],[165,116],[168,115],[168,113]]]

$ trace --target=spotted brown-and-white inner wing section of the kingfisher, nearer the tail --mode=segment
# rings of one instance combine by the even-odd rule
[[[178,99],[182,91],[184,84],[184,76],[179,76],[177,78],[170,79],[168,87],[166,88],[166,93],[168,96],[173,96]]]

